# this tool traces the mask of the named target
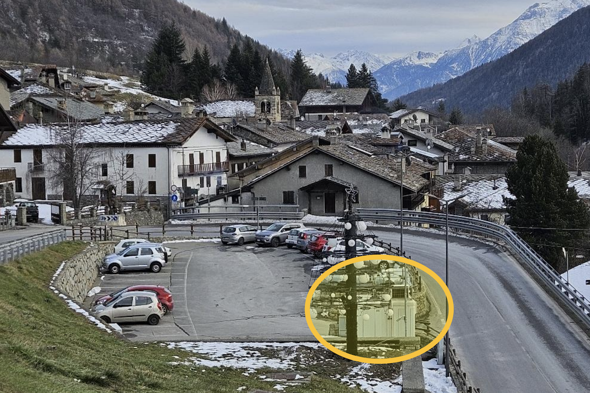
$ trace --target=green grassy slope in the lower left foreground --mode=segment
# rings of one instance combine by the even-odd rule
[[[69,309],[48,284],[60,263],[85,247],[65,242],[0,266],[0,392],[274,390],[276,382],[260,381],[261,373],[166,364],[177,360],[173,355],[182,361],[194,354],[125,341]],[[321,376],[289,391],[360,392]]]

